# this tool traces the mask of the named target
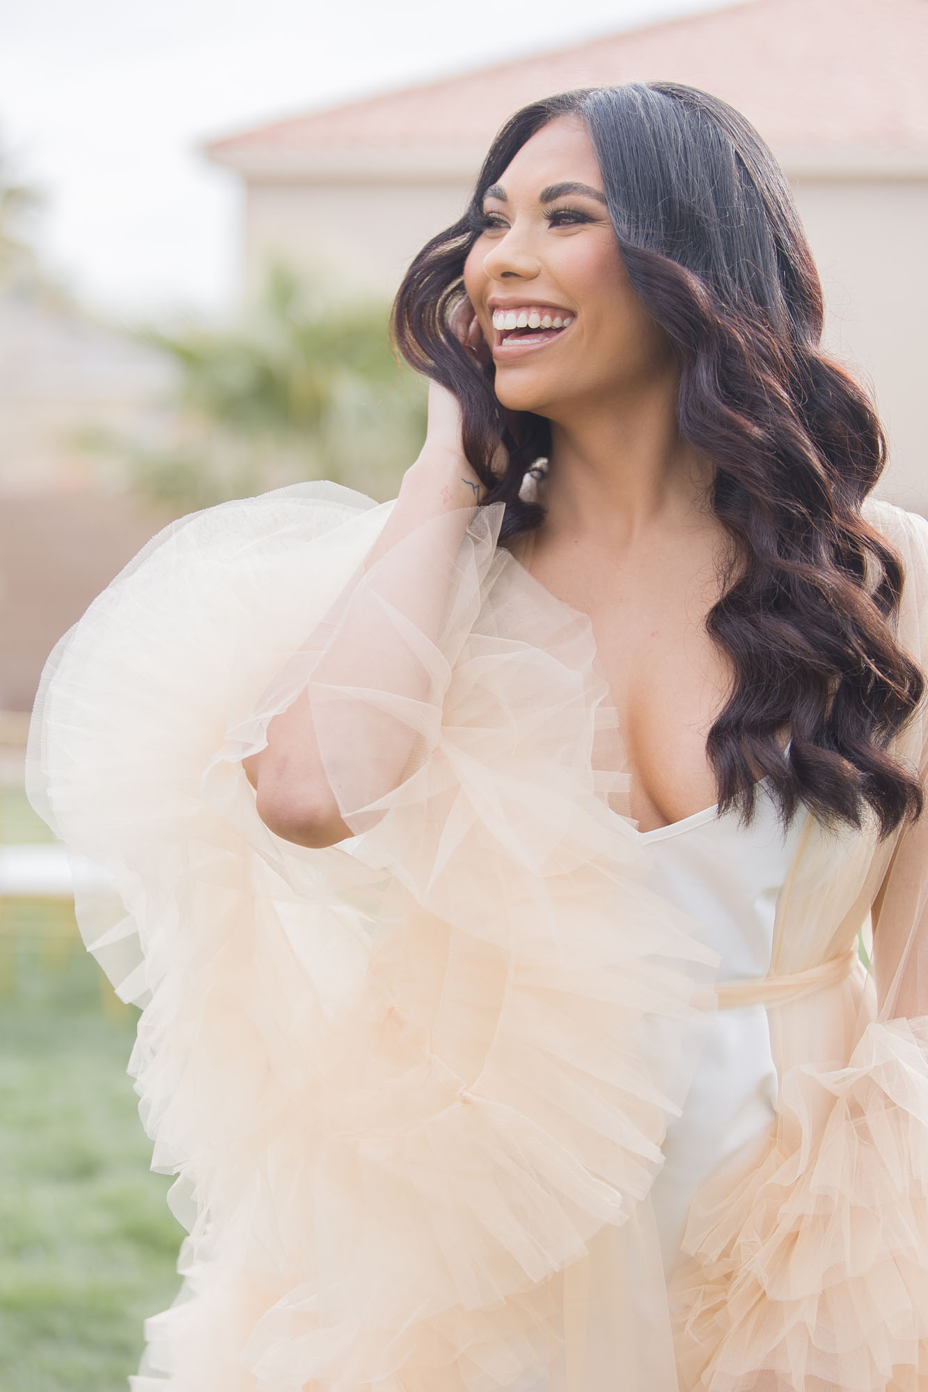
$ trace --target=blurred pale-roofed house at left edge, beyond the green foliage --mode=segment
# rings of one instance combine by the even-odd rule
[[[107,487],[84,441],[144,429],[170,380],[60,296],[0,294],[0,711],[29,709],[52,644],[167,521]]]

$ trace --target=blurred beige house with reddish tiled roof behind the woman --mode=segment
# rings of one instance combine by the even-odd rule
[[[503,120],[553,92],[669,78],[732,102],[794,188],[825,283],[828,344],[876,391],[882,491],[928,512],[921,386],[928,3],[751,0],[213,142],[247,185],[245,291],[280,256],[392,291],[463,212]]]

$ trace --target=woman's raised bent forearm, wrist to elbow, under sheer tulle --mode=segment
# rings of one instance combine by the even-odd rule
[[[361,572],[307,642],[311,679],[244,761],[279,835],[320,846],[351,835],[343,812],[390,792],[424,736],[456,558],[482,486],[454,451],[407,470]]]

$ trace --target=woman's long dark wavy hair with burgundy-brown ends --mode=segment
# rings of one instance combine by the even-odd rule
[[[922,807],[917,778],[888,749],[925,681],[893,635],[902,565],[861,516],[885,438],[867,393],[821,351],[818,273],[789,185],[750,122],[674,82],[523,107],[493,141],[465,214],[410,266],[394,342],[460,398],[482,503],[506,504],[500,540],[536,528],[543,507],[518,491],[549,452],[549,422],[524,412],[507,427],[493,366],[461,347],[449,317],[485,189],[560,116],[589,131],[630,283],[679,361],[680,433],[715,464],[711,501],[734,541],[706,618],[733,667],[706,739],[719,812],[750,821],[762,777],[784,823],[803,800],[826,825],[860,827],[869,805],[888,835]],[[496,475],[500,441],[509,465]]]

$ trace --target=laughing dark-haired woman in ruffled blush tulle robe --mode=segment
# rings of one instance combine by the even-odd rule
[[[725,103],[525,107],[399,497],[183,519],[56,650],[190,1228],[137,1389],[928,1384],[928,523],[821,327]]]

